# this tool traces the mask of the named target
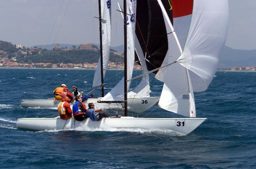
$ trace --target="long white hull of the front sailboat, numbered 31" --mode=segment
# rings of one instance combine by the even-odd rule
[[[17,127],[26,130],[62,130],[85,128],[144,128],[149,130],[170,130],[175,135],[187,135],[196,129],[206,118],[104,118],[93,122],[86,119],[82,122],[70,118],[62,120],[60,118],[19,118]]]

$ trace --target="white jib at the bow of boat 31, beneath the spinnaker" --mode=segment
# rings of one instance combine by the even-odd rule
[[[163,12],[167,33],[172,32],[167,35],[168,52],[162,64],[162,66],[164,66],[165,64],[170,64],[177,61],[182,53],[182,48],[179,44],[178,38],[175,37],[176,34],[174,32],[174,28],[172,27],[161,0],[158,0],[158,3]],[[184,40],[182,45],[184,45]],[[175,63],[171,66],[160,69],[160,71],[158,71],[156,74],[156,78],[161,79],[161,81],[164,82],[163,90],[158,103],[161,108],[189,117],[190,112],[192,112],[190,108],[193,107],[193,117],[196,117],[193,90],[191,88],[192,86],[189,86],[190,78],[186,68]]]

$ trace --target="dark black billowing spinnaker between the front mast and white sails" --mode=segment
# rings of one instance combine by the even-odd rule
[[[169,4],[168,1],[165,3]],[[162,10],[157,0],[137,0],[136,12],[136,36],[146,57],[146,66],[151,71],[162,65],[168,51],[167,31]],[[169,10],[167,12],[172,19],[172,12]],[[139,59],[136,58],[137,60]]]

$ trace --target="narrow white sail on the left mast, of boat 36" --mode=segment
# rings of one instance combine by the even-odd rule
[[[110,56],[111,41],[111,5],[101,0],[101,24],[102,24],[102,52],[103,52],[103,77],[106,74]],[[99,59],[93,78],[93,88],[101,85],[101,60]]]

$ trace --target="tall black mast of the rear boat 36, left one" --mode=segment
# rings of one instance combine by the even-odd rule
[[[100,68],[101,68],[100,74],[101,74],[101,97],[104,97],[101,0],[99,0],[99,21],[100,21]]]

